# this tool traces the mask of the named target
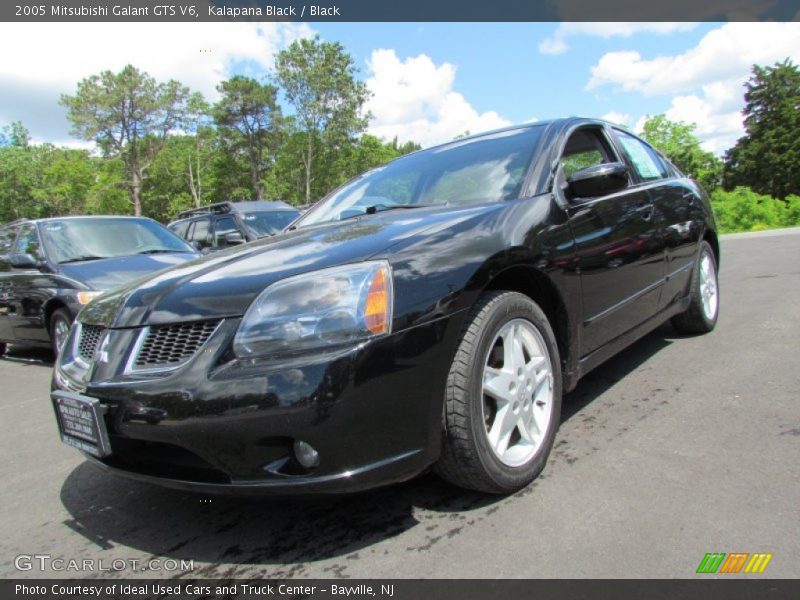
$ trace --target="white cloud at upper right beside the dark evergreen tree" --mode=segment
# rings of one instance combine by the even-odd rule
[[[667,118],[694,123],[704,147],[721,153],[744,132],[742,86],[752,65],[786,57],[800,61],[798,40],[800,23],[727,23],[674,56],[648,59],[635,51],[609,52],[592,67],[586,88],[674,94]]]

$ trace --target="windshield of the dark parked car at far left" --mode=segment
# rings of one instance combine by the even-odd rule
[[[41,225],[42,236],[55,262],[97,258],[194,252],[166,227],[149,219],[58,219]]]

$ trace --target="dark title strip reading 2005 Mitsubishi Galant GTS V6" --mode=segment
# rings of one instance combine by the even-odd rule
[[[0,20],[791,21],[798,11],[800,0],[16,0],[0,4]]]

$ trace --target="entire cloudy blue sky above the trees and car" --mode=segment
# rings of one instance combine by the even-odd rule
[[[222,79],[265,78],[277,51],[314,34],[355,58],[370,132],[423,145],[566,115],[637,129],[666,113],[722,153],[742,134],[750,66],[800,62],[798,23],[2,23],[15,59],[0,62],[0,125],[81,146],[58,98],[83,77],[131,63],[214,100]]]

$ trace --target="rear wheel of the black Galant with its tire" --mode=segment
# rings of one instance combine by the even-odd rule
[[[692,272],[689,308],[672,318],[672,325],[681,333],[708,333],[719,317],[719,282],[717,260],[708,242],[703,242]]]

